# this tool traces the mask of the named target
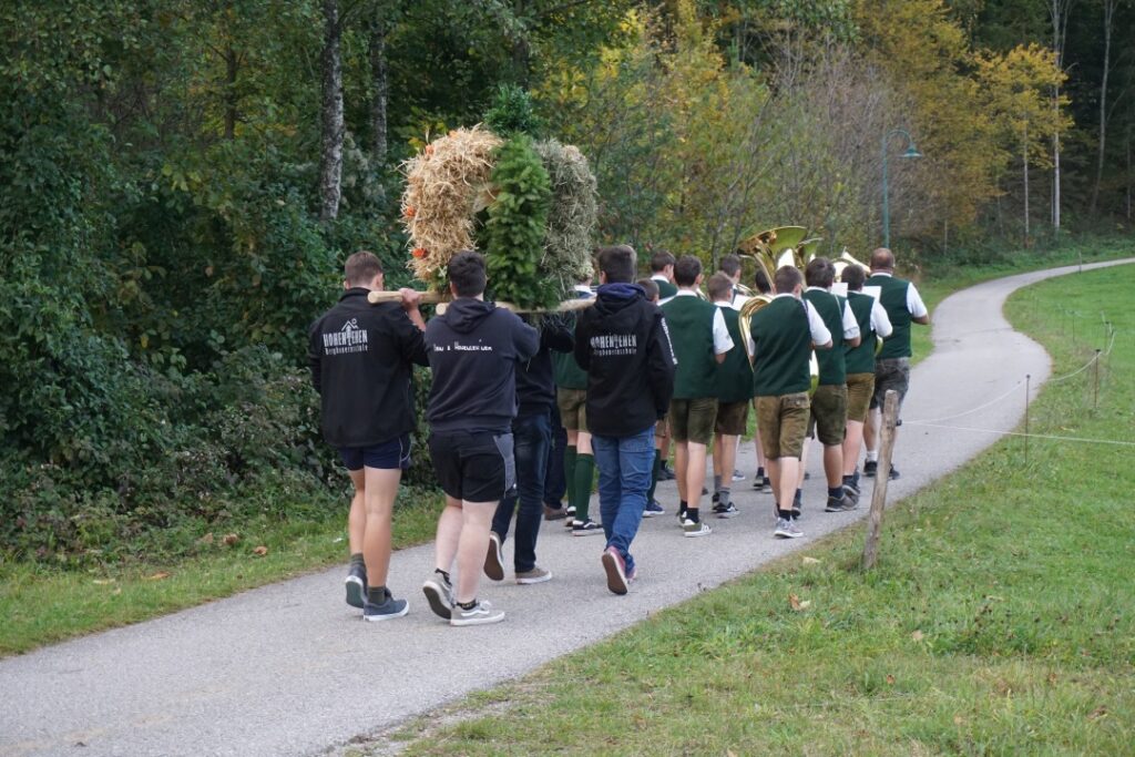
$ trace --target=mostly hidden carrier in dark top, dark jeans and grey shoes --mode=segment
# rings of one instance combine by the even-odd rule
[[[502,547],[508,537],[513,514],[516,515],[513,549],[516,583],[543,583],[552,579],[552,571],[536,564],[536,539],[544,520],[544,486],[552,454],[552,407],[556,402],[552,351],[563,353],[571,348],[572,336],[563,322],[545,318],[540,323],[539,351],[531,359],[516,363],[518,410],[512,421],[516,488],[501,499],[493,515],[485,574],[494,581],[504,580]]]

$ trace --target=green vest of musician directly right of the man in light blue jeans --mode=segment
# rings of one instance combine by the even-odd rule
[[[682,295],[662,306],[678,368],[674,398],[717,396],[717,360],[713,351],[713,318],[717,305]]]

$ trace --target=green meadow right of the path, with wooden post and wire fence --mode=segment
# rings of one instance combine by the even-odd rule
[[[1092,371],[1050,385],[1034,434],[1132,439],[1133,286],[1125,267],[1011,301],[1057,373],[1098,346],[1060,303],[1119,331],[1099,410]],[[1004,440],[896,506],[869,574],[859,529],[834,535],[393,738],[410,755],[1130,754],[1130,459]]]

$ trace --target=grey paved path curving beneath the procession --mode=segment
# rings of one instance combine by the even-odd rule
[[[1075,270],[1015,276],[945,300],[935,313],[934,355],[914,371],[908,421],[965,412],[1004,394],[1025,373],[1040,387],[1049,358],[1010,329],[1001,305],[1017,287]],[[1023,393],[964,424],[1011,429]],[[896,452],[902,478],[891,486],[892,499],[995,438],[908,423]],[[751,477],[753,446],[742,453],[739,466]],[[606,589],[600,538],[572,538],[558,523],[546,523],[539,555],[553,581],[485,581],[482,596],[508,612],[499,625],[451,629],[429,612],[418,586],[432,569],[432,547],[422,546],[394,556],[392,584],[411,602],[411,614],[396,622],[362,623],[343,604],[343,571],[333,570],[0,662],[0,755],[336,750],[356,734],[518,676],[863,518],[864,508],[822,512],[818,457],[813,455],[805,490],[807,538],[774,540],[770,495],[753,493],[746,480],[734,485],[741,516],[713,520],[708,538],[682,538],[670,514],[644,521],[634,542],[642,578],[625,597]],[[659,489],[673,508],[673,483]]]

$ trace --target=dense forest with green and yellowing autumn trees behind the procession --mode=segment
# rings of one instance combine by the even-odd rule
[[[713,266],[794,224],[864,258],[884,151],[910,270],[1133,220],[1125,0],[5,0],[0,24],[2,560],[342,518],[306,327],[354,250],[409,283],[400,163],[502,85],[591,161],[597,242],[640,252]]]

